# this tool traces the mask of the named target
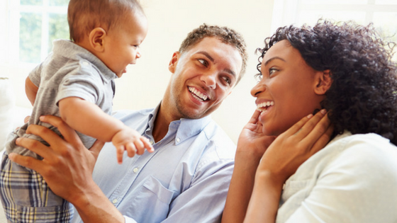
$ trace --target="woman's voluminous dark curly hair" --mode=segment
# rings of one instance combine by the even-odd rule
[[[382,40],[372,24],[320,20],[313,27],[276,30],[259,50],[259,62],[281,40],[288,40],[313,69],[330,69],[333,82],[321,106],[331,111],[335,135],[374,132],[397,144],[395,43]]]

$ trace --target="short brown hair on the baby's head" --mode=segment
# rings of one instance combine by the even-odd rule
[[[79,42],[96,27],[108,31],[121,25],[130,11],[143,14],[137,0],[70,0],[67,9],[70,40]]]

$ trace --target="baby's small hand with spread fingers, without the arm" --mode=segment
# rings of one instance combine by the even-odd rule
[[[142,155],[145,152],[145,148],[149,152],[155,151],[149,139],[129,127],[125,127],[123,130],[117,132],[112,138],[112,143],[116,147],[118,164],[123,162],[125,150],[129,157],[133,157],[135,154]]]

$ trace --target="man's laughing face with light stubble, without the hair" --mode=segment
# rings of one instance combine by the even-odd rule
[[[169,63],[172,78],[164,97],[173,119],[211,114],[231,93],[241,68],[238,50],[217,38],[203,38],[186,52],[175,52]]]

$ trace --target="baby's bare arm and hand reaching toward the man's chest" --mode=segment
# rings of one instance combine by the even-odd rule
[[[62,120],[78,132],[103,142],[112,142],[116,147],[118,163],[123,161],[123,152],[128,156],[143,154],[144,149],[154,151],[152,145],[137,131],[120,120],[104,113],[97,105],[82,98],[69,97],[59,102]]]

